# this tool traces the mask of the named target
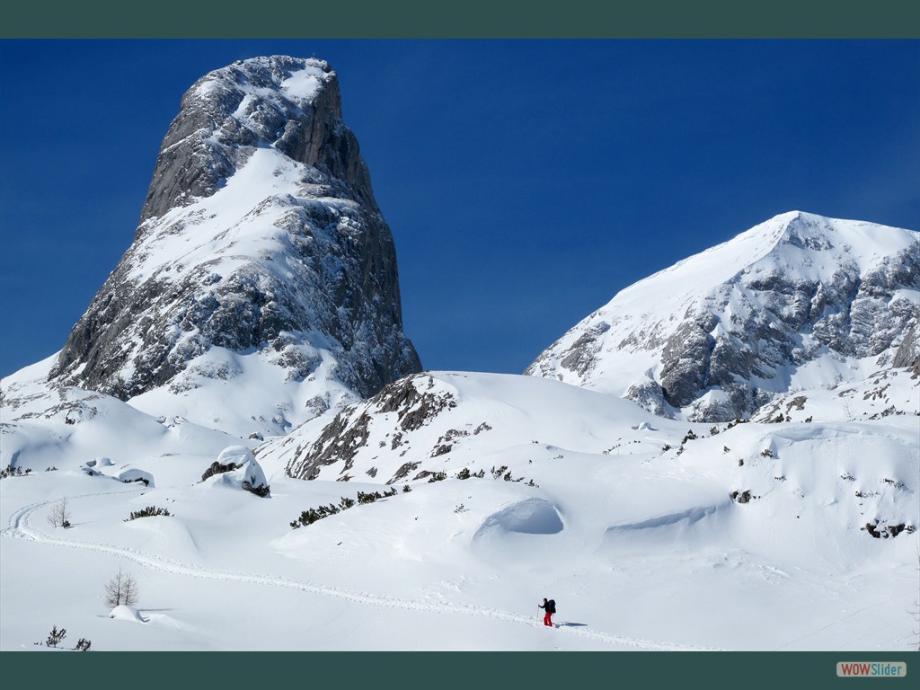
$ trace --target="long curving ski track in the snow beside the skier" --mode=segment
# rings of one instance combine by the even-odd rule
[[[118,493],[132,493],[143,489],[132,489],[132,491],[119,491]],[[85,498],[98,497],[106,494],[84,494],[83,496],[68,497],[67,500],[79,500]],[[457,609],[448,604],[431,604],[412,601],[408,599],[394,599],[377,594],[364,592],[350,592],[348,590],[329,587],[328,585],[316,585],[304,581],[290,580],[288,578],[273,578],[266,575],[253,575],[244,572],[231,572],[227,570],[215,570],[200,568],[188,563],[182,563],[177,560],[171,560],[155,554],[144,553],[132,548],[123,546],[110,546],[107,544],[93,544],[80,542],[70,539],[59,539],[41,532],[31,524],[31,517],[41,508],[52,505],[57,500],[46,500],[40,503],[31,503],[24,506],[10,515],[9,523],[2,535],[11,538],[28,539],[30,541],[40,542],[51,546],[69,546],[72,548],[82,548],[87,551],[96,551],[103,554],[111,554],[121,558],[131,560],[144,568],[152,568],[168,572],[174,575],[184,575],[194,578],[203,578],[206,580],[223,580],[235,582],[247,582],[250,584],[266,585],[270,587],[283,587],[289,590],[307,592],[320,596],[334,597],[355,604],[367,604],[385,608],[398,608],[408,611],[424,611],[432,614],[452,614],[458,615]],[[499,609],[482,608],[478,606],[464,606],[463,615],[477,615],[483,618],[492,618],[495,620],[509,621],[519,623],[525,626],[535,626],[534,618],[530,615],[514,614]],[[540,623],[542,626],[542,623]],[[694,645],[673,644],[670,642],[656,642],[640,638],[627,638],[619,635],[608,635],[592,630],[585,630],[581,627],[568,627],[564,623],[557,624],[557,631],[560,634],[574,635],[579,638],[594,639],[601,642],[632,647],[638,650],[653,651],[719,651],[716,648],[697,647]]]

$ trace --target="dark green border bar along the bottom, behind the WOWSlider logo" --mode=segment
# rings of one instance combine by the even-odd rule
[[[750,622],[753,625],[753,622]],[[840,678],[838,661],[903,661],[903,678]],[[9,687],[162,690],[206,685],[776,690],[906,688],[920,652],[3,652]],[[911,678],[912,680],[907,680]]]

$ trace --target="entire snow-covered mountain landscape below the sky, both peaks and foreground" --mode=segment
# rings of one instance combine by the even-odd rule
[[[63,351],[0,382],[0,650],[916,649],[918,251],[789,213],[540,375],[420,372],[335,74],[218,70]]]

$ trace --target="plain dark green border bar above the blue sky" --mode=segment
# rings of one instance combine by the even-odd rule
[[[915,0],[45,0],[0,38],[920,38]]]

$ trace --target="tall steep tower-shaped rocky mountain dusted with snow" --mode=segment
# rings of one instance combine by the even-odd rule
[[[338,77],[273,56],[204,75],[182,98],[132,246],[48,380],[279,433],[418,371]]]

